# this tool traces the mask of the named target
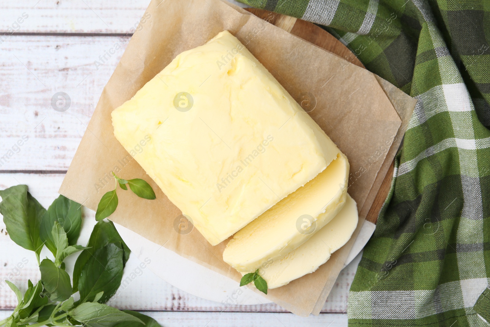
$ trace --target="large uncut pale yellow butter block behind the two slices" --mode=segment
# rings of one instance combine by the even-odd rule
[[[212,245],[340,153],[228,31],[177,55],[112,112],[112,124],[118,141]]]

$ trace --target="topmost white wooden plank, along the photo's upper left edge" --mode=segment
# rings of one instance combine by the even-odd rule
[[[150,1],[18,0],[3,2],[0,34],[13,31],[15,33],[126,34],[133,33],[135,25],[137,26]],[[245,6],[236,1],[230,2]]]

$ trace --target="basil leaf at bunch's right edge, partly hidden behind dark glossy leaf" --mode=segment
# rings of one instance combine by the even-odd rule
[[[76,258],[75,265],[73,267],[73,292],[78,290],[78,279],[82,274],[82,267],[85,266],[94,252],[110,243],[114,243],[123,249],[124,267],[126,261],[129,259],[129,254],[131,251],[127,247],[126,243],[124,243],[116,227],[114,227],[114,224],[111,221],[98,222],[94,226],[92,234],[90,234],[89,243],[87,244],[88,249],[83,250],[78,258]]]

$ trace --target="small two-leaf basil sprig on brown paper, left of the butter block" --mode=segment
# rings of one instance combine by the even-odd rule
[[[114,190],[105,193],[98,202],[97,212],[95,213],[95,219],[97,221],[101,221],[109,217],[114,213],[114,211],[116,211],[119,203],[118,195],[116,193],[118,184],[119,187],[121,187],[125,191],[127,191],[126,184],[128,184],[131,191],[133,191],[133,193],[140,198],[147,200],[156,199],[155,192],[153,192],[150,184],[148,184],[145,180],[141,178],[126,180],[119,176],[116,176],[114,172],[112,172],[112,176],[114,176],[114,179],[116,180],[116,187],[114,188]]]

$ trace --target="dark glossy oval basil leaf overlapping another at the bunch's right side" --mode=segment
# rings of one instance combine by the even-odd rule
[[[121,285],[123,277],[123,250],[116,244],[107,244],[98,249],[82,267],[78,281],[80,302],[92,301],[99,292],[104,292],[98,300],[105,303]]]

